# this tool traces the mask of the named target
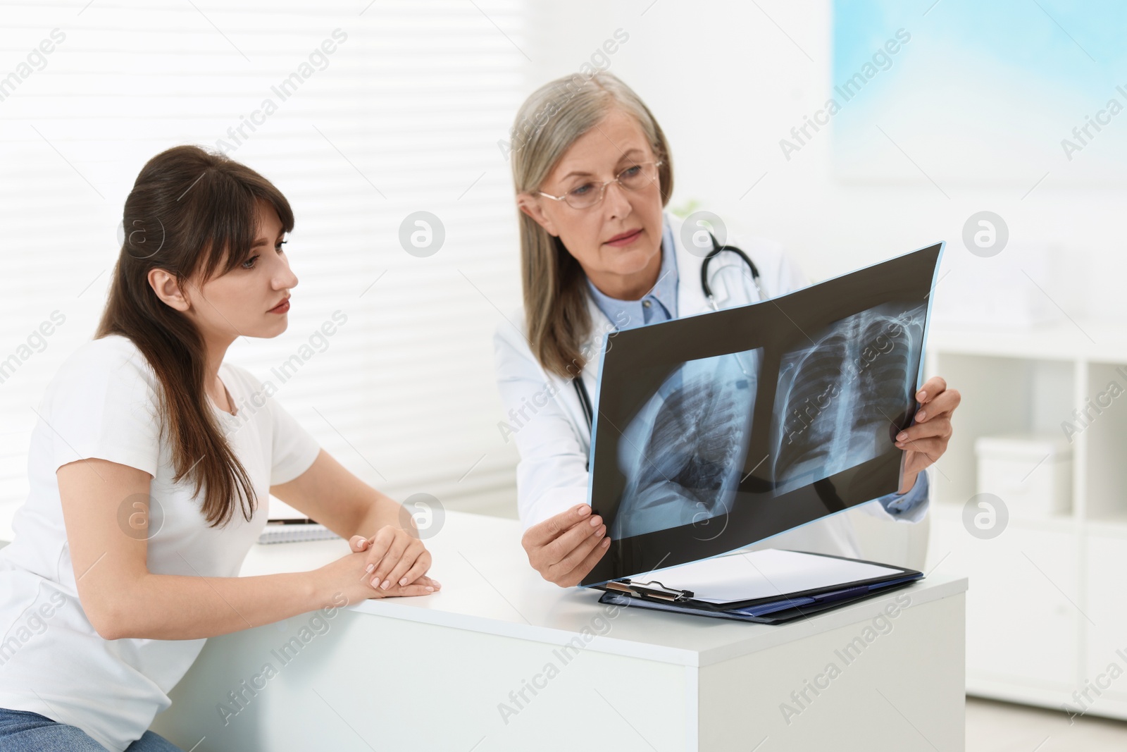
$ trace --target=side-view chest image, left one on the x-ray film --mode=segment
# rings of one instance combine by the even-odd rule
[[[730,511],[755,409],[762,350],[682,363],[618,443],[625,478],[612,538],[701,523]]]

